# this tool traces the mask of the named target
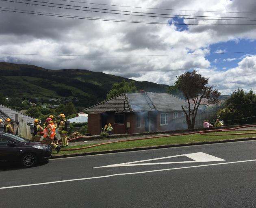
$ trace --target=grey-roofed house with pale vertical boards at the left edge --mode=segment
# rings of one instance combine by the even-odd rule
[[[31,139],[29,124],[34,123],[33,117],[0,104],[0,119],[4,122],[7,118],[10,118],[12,121],[14,134],[19,134],[26,139]]]

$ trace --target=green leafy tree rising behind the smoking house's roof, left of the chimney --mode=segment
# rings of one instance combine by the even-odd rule
[[[135,93],[137,91],[137,87],[135,85],[135,81],[126,82],[122,80],[121,82],[116,82],[113,84],[112,89],[107,93],[106,98],[110,99],[121,93]]]

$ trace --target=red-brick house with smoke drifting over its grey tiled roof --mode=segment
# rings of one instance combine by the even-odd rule
[[[85,109],[88,132],[98,135],[106,124],[113,134],[158,132],[187,128],[181,106],[188,102],[166,93],[123,93]]]

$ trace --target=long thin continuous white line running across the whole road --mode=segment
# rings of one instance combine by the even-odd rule
[[[233,164],[233,163],[245,163],[245,162],[253,162],[253,161],[256,161],[256,159],[255,160],[234,161],[234,162],[228,162],[228,163],[196,165],[196,166],[189,166],[189,167],[176,167],[176,168],[168,168],[168,169],[152,170],[152,171],[141,171],[141,172],[134,172],[134,173],[117,173],[117,174],[108,175],[108,176],[98,176],[98,177],[91,177],[91,178],[78,178],[78,179],[71,179],[71,180],[60,180],[60,181],[52,181],[52,182],[45,182],[45,183],[38,183],[38,184],[26,184],[26,185],[20,185],[20,186],[7,186],[7,187],[0,187],[0,189],[12,189],[12,188],[19,188],[19,187],[26,187],[26,186],[38,186],[38,185],[45,185],[45,184],[55,184],[55,183],[63,183],[63,182],[71,182],[71,181],[79,181],[79,180],[89,180],[89,179],[96,179],[96,178],[109,178],[109,177],[113,177],[113,176],[134,175],[134,174],[141,174],[141,173],[169,171],[169,170],[186,169],[186,168],[193,168],[193,167],[204,167],[204,166],[212,166],[212,165],[226,165],[226,164]]]

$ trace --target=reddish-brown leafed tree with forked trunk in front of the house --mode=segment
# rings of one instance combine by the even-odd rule
[[[188,102],[188,109],[181,106],[186,115],[186,121],[189,129],[195,126],[195,117],[200,106],[202,98],[207,98],[208,103],[214,104],[219,102],[218,98],[221,93],[207,86],[209,78],[197,74],[195,70],[185,72],[177,77],[175,87],[180,89]]]

